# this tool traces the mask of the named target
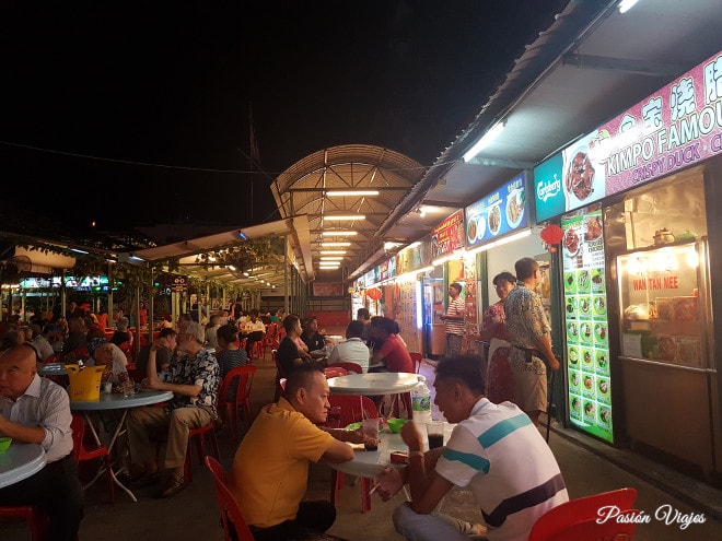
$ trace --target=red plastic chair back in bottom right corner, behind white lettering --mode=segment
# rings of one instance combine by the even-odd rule
[[[624,515],[639,514],[631,506],[637,501],[634,489],[618,489],[570,499],[539,517],[529,531],[528,541],[596,541],[599,539],[631,540],[637,524],[609,519],[598,524],[598,510],[616,506]]]

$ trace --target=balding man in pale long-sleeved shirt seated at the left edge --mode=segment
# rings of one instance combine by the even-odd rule
[[[45,467],[0,489],[0,505],[36,505],[49,517],[50,539],[77,539],[83,518],[83,487],[72,456],[68,392],[36,374],[35,350],[21,344],[0,353],[0,436],[39,444]]]

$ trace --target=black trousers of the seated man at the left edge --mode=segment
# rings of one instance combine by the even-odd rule
[[[27,479],[0,489],[0,505],[36,505],[50,519],[49,539],[74,541],[85,499],[72,455],[45,464]]]

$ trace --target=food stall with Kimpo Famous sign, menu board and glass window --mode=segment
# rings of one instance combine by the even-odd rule
[[[722,202],[720,63],[722,54],[534,170],[537,220],[564,233],[571,425],[704,473],[722,471],[710,279],[722,239],[709,225]]]

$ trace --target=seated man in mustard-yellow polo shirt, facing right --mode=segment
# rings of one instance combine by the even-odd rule
[[[316,426],[328,416],[328,392],[321,368],[296,367],[278,403],[263,408],[241,442],[229,487],[256,541],[339,539],[323,533],[336,520],[334,505],[303,501],[310,461],[351,460],[343,442],[363,443],[360,431]]]

